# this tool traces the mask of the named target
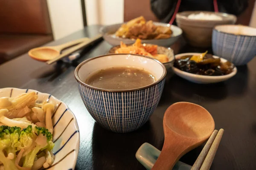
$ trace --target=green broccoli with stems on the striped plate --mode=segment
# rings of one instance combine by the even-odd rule
[[[40,139],[38,136],[40,136]],[[41,144],[42,141],[44,141],[44,144]],[[16,153],[20,149],[29,147],[32,150],[26,154],[23,167],[31,168],[40,150],[52,150],[54,147],[52,134],[44,127],[32,127],[32,125],[23,130],[20,127],[0,126],[0,160],[5,170],[18,170],[15,166]]]

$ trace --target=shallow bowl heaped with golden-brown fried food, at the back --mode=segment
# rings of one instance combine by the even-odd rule
[[[133,44],[140,38],[142,43],[169,47],[180,38],[182,30],[167,23],[146,21],[144,17],[137,17],[127,23],[103,26],[100,33],[104,40],[113,46],[120,45],[121,41]]]

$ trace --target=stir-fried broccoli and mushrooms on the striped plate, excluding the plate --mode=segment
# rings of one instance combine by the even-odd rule
[[[55,105],[37,99],[35,92],[0,98],[0,169],[38,170],[53,163]]]

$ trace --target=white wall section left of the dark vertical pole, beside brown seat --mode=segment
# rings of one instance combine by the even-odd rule
[[[47,0],[47,5],[55,40],[84,27],[81,0]]]

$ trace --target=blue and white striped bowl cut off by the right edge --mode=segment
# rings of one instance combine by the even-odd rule
[[[212,51],[235,65],[245,65],[256,56],[256,28],[240,25],[215,26]]]

